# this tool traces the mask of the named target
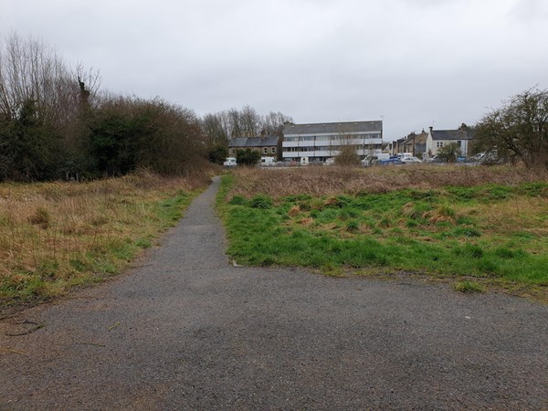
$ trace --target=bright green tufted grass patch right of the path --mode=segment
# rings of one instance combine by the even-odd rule
[[[228,254],[249,265],[406,270],[548,285],[548,184],[227,198]],[[260,205],[256,198],[259,198]],[[227,201],[228,200],[228,201]]]

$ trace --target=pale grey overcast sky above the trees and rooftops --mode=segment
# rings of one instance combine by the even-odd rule
[[[384,120],[385,141],[473,124],[548,88],[548,0],[0,0],[102,90],[198,115]]]

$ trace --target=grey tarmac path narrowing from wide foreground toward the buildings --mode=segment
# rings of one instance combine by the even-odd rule
[[[0,321],[0,409],[548,409],[548,306],[234,268],[217,188],[126,275]]]

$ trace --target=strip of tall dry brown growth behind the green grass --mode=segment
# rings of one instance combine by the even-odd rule
[[[387,167],[309,166],[290,169],[238,168],[230,195],[355,195],[447,185],[520,184],[548,181],[548,173],[522,167],[406,165]]]

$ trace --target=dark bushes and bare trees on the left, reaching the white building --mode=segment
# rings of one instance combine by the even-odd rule
[[[47,44],[0,37],[0,181],[188,174],[221,163],[231,137],[279,135],[288,120],[249,106],[200,118],[160,98],[114,95],[98,71],[69,68]]]

